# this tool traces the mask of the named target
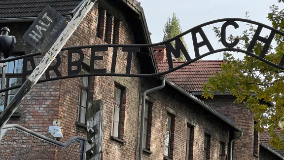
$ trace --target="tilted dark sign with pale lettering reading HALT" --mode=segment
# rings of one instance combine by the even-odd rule
[[[67,26],[67,19],[47,5],[23,36],[41,53],[47,52]]]

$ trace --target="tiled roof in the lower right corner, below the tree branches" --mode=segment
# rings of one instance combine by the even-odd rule
[[[275,132],[280,136],[280,138],[284,139],[284,135],[281,134],[281,131],[280,130],[275,130]],[[259,141],[262,142],[264,145],[268,146],[269,148],[271,148],[272,150],[276,151],[278,154],[280,154],[281,156],[284,157],[284,151],[283,150],[278,150],[274,147],[272,147],[270,144],[269,144],[269,140],[271,139],[271,136],[270,134],[268,133],[268,129],[264,129],[264,132],[263,133],[260,133],[259,134]]]

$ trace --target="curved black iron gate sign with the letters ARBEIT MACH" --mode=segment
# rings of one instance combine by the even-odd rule
[[[249,47],[248,47],[247,50],[234,48],[239,42],[238,39],[235,39],[233,42],[226,41],[226,28],[228,26],[233,26],[235,29],[239,28],[239,25],[237,24],[236,21],[247,22],[247,23],[258,25],[256,32],[255,32],[252,40],[249,43]],[[204,27],[204,26],[214,24],[214,23],[218,23],[218,22],[224,22],[222,27],[221,27],[221,43],[226,48],[222,48],[222,49],[214,49],[212,44],[208,40],[207,36],[205,35],[203,29],[202,29],[202,27]],[[260,36],[260,32],[263,28],[267,28],[271,31],[270,35],[267,39]],[[185,49],[184,44],[180,40],[180,37],[182,37],[182,36],[184,36],[188,33],[191,33],[192,42],[193,42],[193,46],[194,46],[195,58],[193,58],[193,59],[189,56],[188,51]],[[200,41],[200,42],[197,41],[197,36],[196,36],[197,34],[200,34],[202,41]],[[270,26],[255,22],[255,21],[251,21],[251,20],[247,20],[247,19],[241,19],[241,18],[224,18],[224,19],[218,19],[218,20],[214,20],[214,21],[210,21],[210,22],[201,24],[201,25],[196,26],[196,27],[194,27],[190,30],[187,30],[186,32],[176,36],[175,38],[172,38],[172,39],[166,40],[166,41],[162,41],[162,42],[159,42],[159,43],[153,43],[153,44],[96,44],[96,45],[65,47],[65,48],[62,49],[62,51],[66,51],[66,50],[68,51],[68,75],[67,76],[61,75],[61,73],[58,69],[59,66],[61,65],[61,57],[60,57],[60,55],[57,55],[57,57],[56,57],[57,63],[53,66],[49,66],[48,69],[45,72],[45,75],[46,75],[45,78],[46,79],[39,80],[38,82],[45,82],[45,81],[51,81],[51,80],[62,80],[62,79],[75,78],[75,77],[88,77],[88,76],[157,77],[157,76],[162,76],[162,75],[166,75],[168,73],[174,72],[174,71],[176,71],[176,70],[178,70],[178,69],[180,69],[180,68],[182,68],[182,67],[184,67],[184,66],[186,66],[186,65],[188,65],[192,62],[195,62],[195,61],[207,56],[207,55],[217,53],[217,52],[222,52],[222,51],[242,52],[242,53],[248,54],[252,57],[255,57],[255,58],[257,58],[257,59],[259,59],[259,60],[261,60],[261,61],[263,61],[267,64],[270,64],[271,66],[274,66],[276,68],[284,70],[284,56],[282,57],[279,64],[275,64],[275,63],[265,59],[265,55],[268,51],[269,45],[271,44],[271,42],[272,42],[272,40],[273,40],[273,38],[276,34],[280,34],[280,35],[284,36],[283,32],[276,30],[276,29],[274,29]],[[263,50],[262,50],[260,55],[256,55],[256,54],[252,53],[253,47],[254,47],[257,40],[265,43]],[[175,47],[170,43],[171,41],[176,42]],[[141,47],[153,47],[153,46],[158,46],[158,45],[165,45],[166,46],[169,70],[165,71],[165,72],[155,73],[155,74],[131,74],[130,69],[131,69],[133,53],[139,52]],[[202,46],[207,46],[207,48],[209,49],[209,52],[207,52],[205,54],[200,54],[199,48],[202,47]],[[110,70],[109,73],[107,73],[106,68],[95,69],[94,65],[95,65],[95,61],[102,61],[104,59],[103,56],[96,55],[96,52],[108,51],[109,47],[113,47],[113,52],[112,52],[111,70]],[[125,70],[126,72],[124,74],[115,73],[116,57],[117,57],[117,53],[118,53],[117,51],[118,51],[119,47],[121,47],[122,52],[127,53],[127,64],[126,64],[126,70]],[[89,74],[79,74],[81,67],[82,67],[81,64],[84,60],[84,52],[82,50],[83,48],[90,48],[91,49],[90,73]],[[182,51],[182,53],[184,54],[187,62],[185,62],[185,63],[174,68],[173,67],[172,54],[176,58],[178,58],[178,57],[180,57],[180,51]],[[73,53],[79,54],[80,58],[77,61],[72,61],[72,54]],[[16,58],[0,60],[0,63],[1,62],[14,61],[14,60],[17,60],[17,59],[24,58],[24,65],[23,65],[23,82],[24,82],[26,80],[26,76],[30,75],[33,72],[33,70],[36,68],[33,56],[40,55],[40,54],[41,53],[33,53],[33,54],[24,55],[24,56],[19,56],[19,57],[16,57]],[[28,67],[27,67],[28,62],[30,62],[33,70],[28,70]],[[72,70],[73,66],[76,66],[77,69]],[[56,74],[57,77],[50,78],[49,71],[54,71],[54,73]],[[16,86],[13,86],[13,87],[1,89],[0,92],[19,88],[19,87],[21,87],[21,85],[16,85]]]

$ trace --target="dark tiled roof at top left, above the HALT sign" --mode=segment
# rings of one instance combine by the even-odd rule
[[[37,17],[50,5],[59,14],[69,15],[82,0],[0,0],[0,18]]]

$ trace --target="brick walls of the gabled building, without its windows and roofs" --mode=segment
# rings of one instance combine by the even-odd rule
[[[99,5],[96,4],[66,43],[66,46],[113,42],[121,44],[136,43],[133,34],[135,28],[131,26],[129,19],[126,18],[125,14],[127,13],[123,13],[106,0],[101,1],[103,2],[100,3],[100,9],[102,9],[100,12],[101,18],[98,20]],[[104,4],[107,7],[104,7]],[[115,13],[110,16],[108,21],[106,21],[105,17],[109,10],[106,8],[110,8],[111,13]],[[119,23],[114,27],[114,21],[117,20],[119,20]],[[100,23],[100,28],[97,28],[98,22]],[[22,40],[22,36],[31,24],[32,22],[1,25],[1,27],[8,27],[11,30],[11,35],[16,36],[17,44],[15,51],[24,51],[25,54],[36,52],[33,47]],[[110,32],[105,33],[106,28]],[[88,66],[91,64],[91,50],[83,49],[83,51],[85,63],[83,67],[88,70]],[[96,52],[96,55],[104,56],[104,59],[96,61],[95,68],[106,68],[107,73],[109,73],[112,63],[112,51],[113,48],[109,47],[105,52]],[[165,52],[166,50],[163,50],[163,53]],[[62,76],[67,76],[68,52],[64,51],[60,55],[61,66],[59,71]],[[38,65],[41,58],[42,56],[34,57],[36,65]],[[72,60],[76,61],[78,59],[78,54],[73,54]],[[162,60],[166,60],[165,55],[162,57]],[[141,63],[136,53],[134,53],[132,56],[131,73],[140,73]],[[127,53],[122,52],[121,48],[118,48],[116,73],[125,73],[126,64]],[[28,66],[28,68],[31,68],[30,63]],[[54,72],[50,72],[50,77],[54,76]],[[43,78],[45,78],[45,75],[43,75]],[[61,142],[66,142],[71,137],[77,135],[85,137],[86,126],[78,123],[77,120],[79,83],[80,78],[72,78],[36,84],[20,106],[20,117],[9,120],[9,123],[20,124],[42,135],[53,138],[48,133],[48,126],[52,125],[54,120],[57,120],[62,127],[63,138]],[[142,92],[158,86],[160,83],[161,81],[154,78],[89,77],[87,104],[91,104],[93,100],[99,99],[104,103],[104,160],[138,159]],[[111,138],[115,85],[124,88],[121,105],[122,112],[120,114],[123,117],[120,121],[122,123],[119,130],[120,140]],[[192,160],[204,160],[205,133],[210,135],[210,160],[218,160],[220,141],[224,142],[225,154],[228,154],[229,140],[234,136],[234,132],[225,122],[219,120],[168,85],[160,91],[150,93],[147,99],[152,102],[150,110],[151,125],[148,126],[151,132],[149,139],[147,139],[148,150],[151,153],[143,152],[143,160],[162,160],[164,158],[167,113],[174,115],[171,126],[171,142],[173,142],[170,144],[171,159],[185,159],[187,125],[192,126],[190,137],[190,147],[192,148],[190,157]],[[208,101],[208,103],[216,107],[220,112],[228,110],[230,114],[226,114],[226,116],[235,120],[236,124],[245,130],[242,139],[238,140],[234,145],[234,160],[252,160],[253,120],[250,117],[251,113],[245,109],[240,109],[238,105],[234,105],[232,98],[219,98],[216,101]],[[252,123],[250,124],[251,120]]]

